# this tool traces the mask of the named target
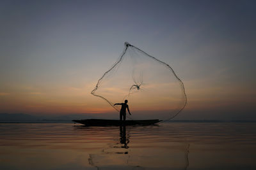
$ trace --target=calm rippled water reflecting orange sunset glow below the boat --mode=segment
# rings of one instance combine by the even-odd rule
[[[0,169],[256,169],[255,123],[0,124]]]

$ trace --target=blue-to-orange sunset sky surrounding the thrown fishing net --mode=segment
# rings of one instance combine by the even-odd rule
[[[184,82],[177,119],[256,120],[255,5],[1,1],[0,113],[115,112],[90,92],[127,41]]]

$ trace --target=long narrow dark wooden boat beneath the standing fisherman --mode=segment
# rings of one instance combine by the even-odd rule
[[[84,119],[84,120],[72,120],[73,122],[84,124],[88,126],[100,126],[100,125],[152,125],[161,120],[152,119],[152,120],[108,120],[108,119]]]

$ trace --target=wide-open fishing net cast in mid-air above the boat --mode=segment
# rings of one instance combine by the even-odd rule
[[[186,92],[172,67],[125,43],[115,64],[99,79],[92,94],[114,103],[129,101],[131,118],[170,120],[184,109]]]

